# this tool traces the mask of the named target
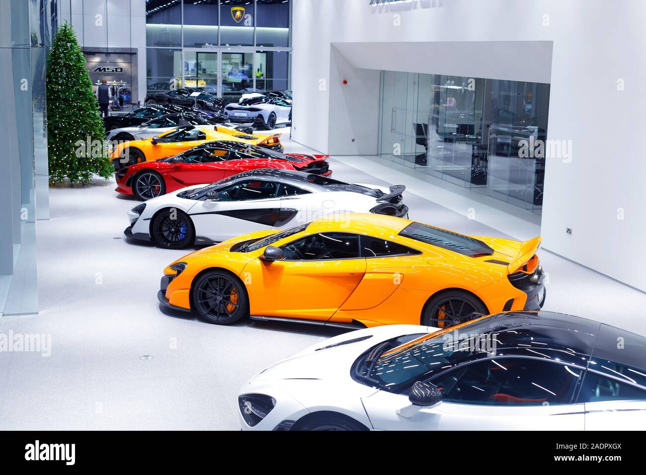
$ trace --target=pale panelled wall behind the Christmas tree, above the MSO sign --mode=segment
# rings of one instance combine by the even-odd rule
[[[59,24],[74,27],[81,48],[136,48],[137,90],[133,101],[146,91],[145,0],[59,0]],[[97,17],[97,16],[101,17]]]

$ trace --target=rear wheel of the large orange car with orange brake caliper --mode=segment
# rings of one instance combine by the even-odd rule
[[[450,328],[472,319],[473,313],[487,315],[485,304],[467,291],[451,290],[433,296],[422,312],[422,325]]]

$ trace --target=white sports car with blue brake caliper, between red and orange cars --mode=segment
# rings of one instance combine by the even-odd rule
[[[180,249],[253,231],[286,229],[331,213],[408,215],[404,185],[348,184],[282,169],[245,171],[152,198],[128,212],[125,235]]]

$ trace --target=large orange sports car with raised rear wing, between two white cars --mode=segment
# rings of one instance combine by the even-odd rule
[[[474,313],[539,310],[545,301],[540,242],[346,213],[186,255],[164,269],[158,299],[216,324],[251,317],[448,328]]]

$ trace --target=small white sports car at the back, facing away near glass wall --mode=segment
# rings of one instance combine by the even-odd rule
[[[291,123],[291,99],[265,96],[258,92],[242,94],[240,100],[224,107],[232,122],[250,122],[271,131],[276,125]]]

